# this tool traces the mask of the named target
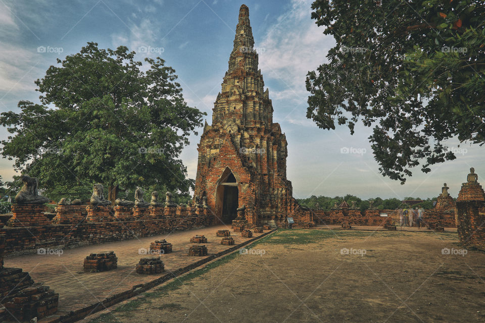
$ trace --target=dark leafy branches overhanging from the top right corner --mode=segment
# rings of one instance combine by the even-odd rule
[[[357,122],[384,176],[455,159],[445,140],[485,142],[485,3],[317,0],[332,35],[328,63],[309,72],[307,117],[324,129]]]

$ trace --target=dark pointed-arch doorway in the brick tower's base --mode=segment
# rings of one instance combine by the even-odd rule
[[[226,168],[220,177],[216,203],[219,217],[223,223],[230,224],[232,220],[237,218],[239,189],[236,178],[229,168]]]

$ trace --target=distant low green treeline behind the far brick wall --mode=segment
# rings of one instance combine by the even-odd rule
[[[403,204],[401,200],[397,198],[386,198],[382,199],[380,197],[369,198],[363,200],[355,195],[347,194],[346,196],[315,196],[312,195],[309,198],[299,198],[298,203],[302,206],[310,207],[312,209],[319,209],[324,211],[329,211],[331,207],[335,204],[342,203],[345,200],[349,205],[352,205],[352,201],[357,201],[356,205],[361,211],[365,211],[369,208],[369,201],[374,200],[374,207],[378,209],[397,209],[397,208],[409,208],[410,206]],[[422,207],[424,209],[433,208],[433,202],[436,201],[436,197],[422,199],[419,197],[406,197],[404,200],[423,200],[422,203],[414,204],[412,207]],[[318,205],[317,205],[318,203]]]

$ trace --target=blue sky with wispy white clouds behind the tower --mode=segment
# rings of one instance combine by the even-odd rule
[[[437,196],[444,182],[456,197],[470,167],[475,167],[479,178],[485,174],[484,148],[464,143],[456,160],[434,166],[428,174],[416,168],[405,185],[379,175],[367,139],[369,128],[359,125],[351,136],[346,127],[326,131],[305,117],[305,75],[326,61],[333,46],[333,38],[323,35],[323,28],[310,19],[312,1],[244,3],[250,9],[260,69],[273,101],[273,120],[280,123],[288,141],[287,177],[295,197],[425,198]],[[0,111],[18,111],[21,99],[38,102],[33,82],[56,58],[95,41],[103,48],[126,45],[137,52],[139,61],[161,56],[176,70],[189,105],[207,112],[210,123],[241,4],[233,0],[0,0]],[[0,129],[1,138],[7,135]],[[192,135],[181,156],[191,178],[197,170],[198,142],[199,137]],[[456,140],[448,145],[458,149]],[[350,153],[342,153],[347,150]],[[0,175],[11,180],[13,174],[12,161],[0,159]]]

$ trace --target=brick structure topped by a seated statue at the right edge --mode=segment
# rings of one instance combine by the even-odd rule
[[[456,199],[455,217],[460,242],[485,251],[485,192],[477,179],[470,169]]]

